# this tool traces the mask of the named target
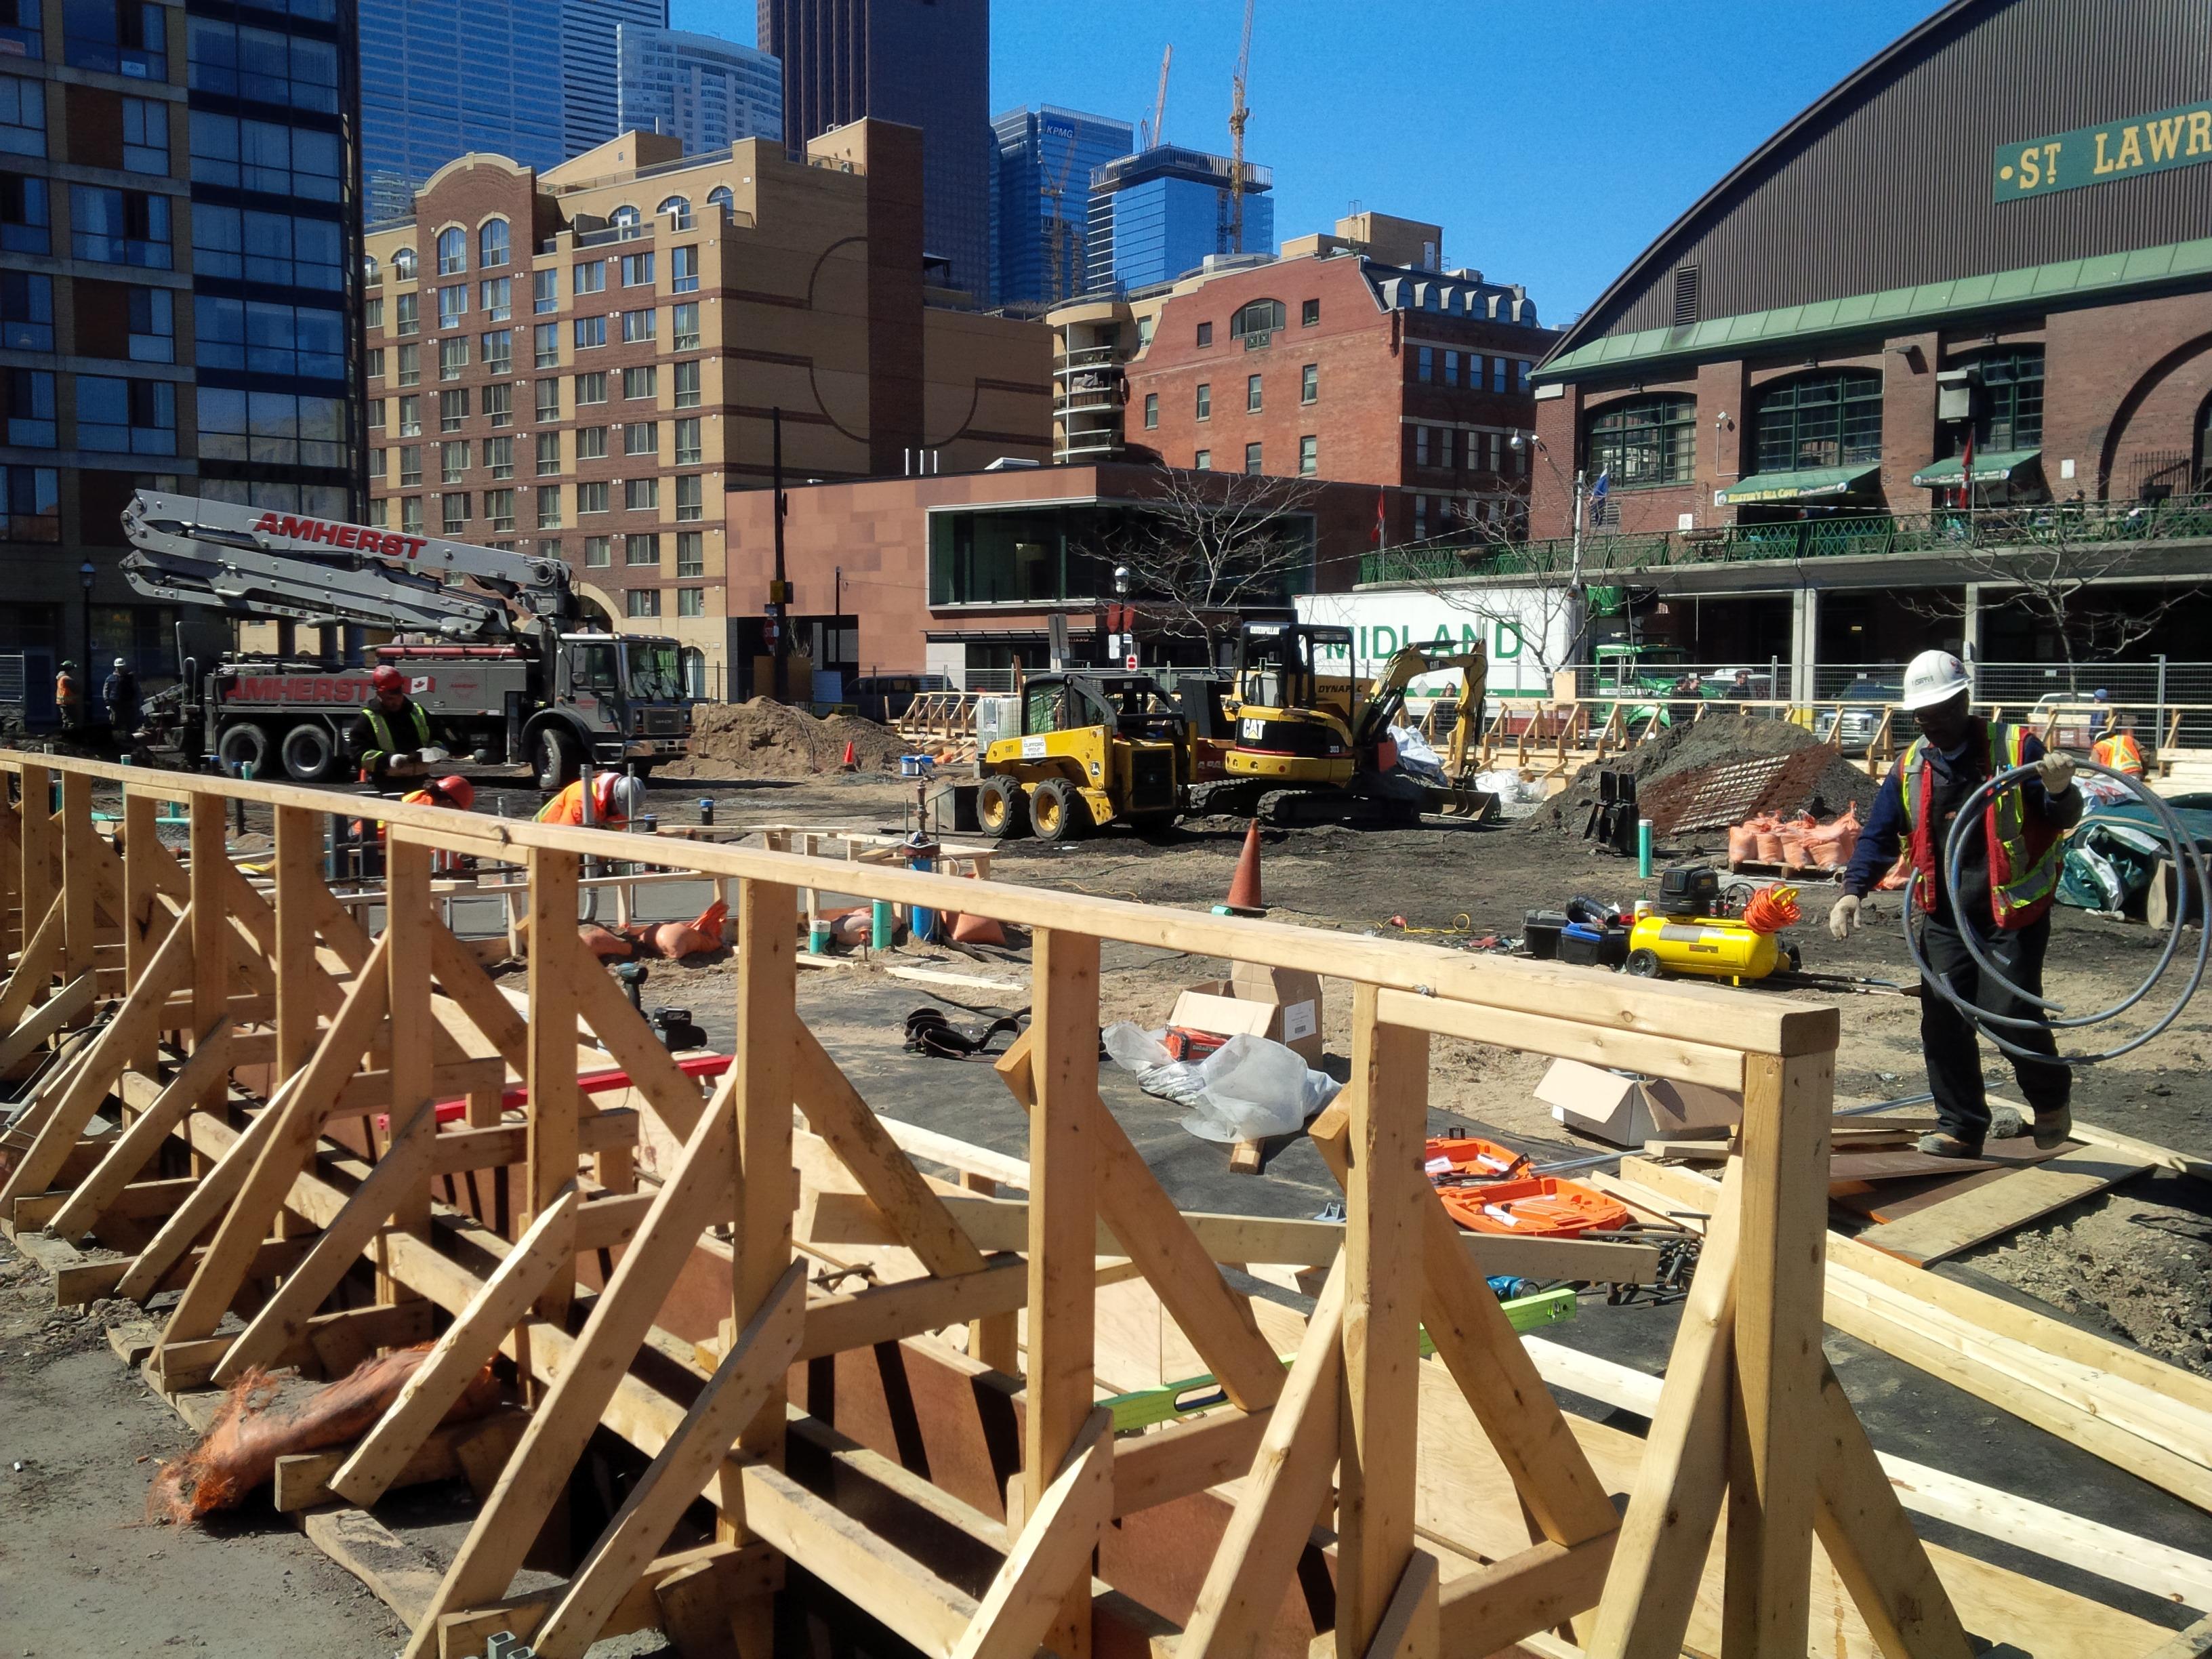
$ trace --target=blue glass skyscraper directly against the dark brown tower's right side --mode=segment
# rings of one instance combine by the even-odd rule
[[[1128,155],[1135,131],[1108,115],[1040,104],[1006,111],[991,133],[991,303],[1057,305],[1088,285],[1091,173]]]

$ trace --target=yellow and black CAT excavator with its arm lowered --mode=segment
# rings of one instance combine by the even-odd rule
[[[1237,681],[1223,699],[1234,737],[1212,763],[1219,781],[1192,787],[1192,814],[1314,823],[1409,825],[1422,812],[1489,818],[1498,796],[1471,787],[1473,737],[1482,728],[1489,664],[1482,648],[1407,646],[1367,686],[1352,675],[1349,628],[1296,622],[1245,626],[1237,637]],[[1398,763],[1389,730],[1405,688],[1420,675],[1464,675],[1444,754],[1444,783],[1425,783]]]

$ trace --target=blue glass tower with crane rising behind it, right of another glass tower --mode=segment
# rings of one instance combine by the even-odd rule
[[[1091,288],[1168,283],[1208,254],[1274,252],[1274,173],[1245,161],[1243,234],[1230,159],[1161,144],[1091,175]]]

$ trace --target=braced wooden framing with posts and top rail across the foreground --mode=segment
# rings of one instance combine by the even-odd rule
[[[1124,1635],[1133,1628],[1126,1597],[1093,1577],[1108,1522],[1199,1498],[1221,1480],[1237,1480],[1232,1513],[1203,1557],[1206,1584],[1177,1644],[1186,1657],[1270,1650],[1274,1615],[1316,1537],[1336,1551],[1325,1635],[1345,1659],[1471,1659],[1593,1610],[1597,1621],[1584,1628],[1597,1632],[1597,1650],[1617,1630],[1628,1635],[1610,1650],[1672,1652],[1690,1615],[1668,1566],[1703,1542],[1681,1535],[1679,1515],[1717,1515],[1721,1504],[1728,1659],[1805,1650],[1816,1531],[1863,1619],[1896,1655],[1960,1650],[1942,1582],[1818,1358],[1832,1009],[889,865],[347,796],[347,810],[383,818],[387,834],[387,925],[369,940],[314,867],[312,830],[332,810],[330,794],[20,754],[0,754],[0,770],[22,779],[22,805],[0,807],[0,845],[20,847],[20,891],[55,891],[42,916],[20,918],[27,942],[0,987],[0,1044],[42,1051],[73,1020],[44,1009],[82,995],[71,987],[102,971],[100,949],[122,945],[126,960],[122,1013],[40,1091],[0,1221],[18,1225],[13,1206],[35,1201],[35,1214],[80,1237],[133,1237],[135,1256],[119,1274],[126,1294],[186,1274],[150,1354],[170,1387],[305,1352],[347,1279],[374,1283],[376,1310],[392,1310],[378,1314],[389,1325],[365,1332],[420,1329],[427,1316],[440,1336],[416,1383],[356,1447],[316,1464],[316,1493],[354,1504],[409,1478],[442,1402],[484,1358],[515,1367],[526,1422],[442,1582],[411,1608],[409,1659],[480,1652],[509,1615],[535,1630],[542,1652],[580,1655],[602,1630],[635,1628],[624,1621],[648,1606],[703,1619],[734,1652],[765,1655],[768,1595],[785,1559],[865,1608],[896,1613],[902,1635],[945,1659],[1018,1659],[1037,1646],[1079,1659],[1102,1619]],[[44,810],[55,772],[60,814]],[[97,790],[124,796],[122,856],[91,816]],[[239,799],[276,812],[274,900],[228,858],[223,821]],[[181,867],[144,845],[157,801],[186,803],[192,843]],[[429,872],[440,852],[526,876],[540,927],[524,1009],[438,922]],[[573,933],[549,925],[571,914],[584,856],[737,885],[737,1057],[712,1099],[668,1062]],[[1018,1237],[993,1241],[1018,1254],[980,1248],[942,1183],[916,1170],[900,1135],[799,1020],[794,936],[807,889],[1033,929],[1033,1024],[1000,1064],[1029,1108],[1018,1177],[1026,1203]],[[1316,1124],[1349,1219],[1287,1374],[1254,1307],[1223,1281],[1217,1252],[1099,1102],[1102,940],[1305,967],[1354,984],[1354,1082]],[[186,1037],[177,1053],[159,1048],[164,1033]],[[1453,1232],[1420,1179],[1431,1033],[1595,1064],[1632,1060],[1745,1091],[1741,1155],[1717,1221],[1734,1248],[1717,1243],[1699,1270],[1699,1314],[1683,1323],[1628,1526],[1482,1285],[1482,1248]],[[626,1066],[637,1110],[681,1144],[641,1190],[628,1190],[622,1135],[599,1130],[577,1088],[580,1053]],[[250,1073],[248,1057],[261,1071]],[[504,1075],[529,1086],[520,1121],[500,1115],[493,1084]],[[434,1106],[447,1091],[469,1104],[465,1121],[440,1126]],[[80,1186],[64,1170],[91,1113],[111,1099],[126,1126]],[[896,1239],[869,1254],[887,1274],[872,1287],[810,1283],[816,1261],[843,1263],[801,1232],[794,1108],[821,1137],[810,1157],[841,1164]],[[356,1117],[369,1121],[356,1128]],[[188,1188],[131,1197],[170,1139],[195,1159]],[[511,1199],[500,1212],[507,1232],[487,1223],[484,1208],[438,1201],[440,1170],[493,1172]],[[131,1234],[148,1203],[166,1214],[150,1237]],[[591,1294],[597,1281],[564,1263],[615,1243],[619,1259]],[[1301,1248],[1312,1252],[1312,1241]],[[274,1290],[272,1272],[285,1274]],[[1221,1378],[1228,1405],[1117,1440],[1095,1407],[1095,1354],[1102,1285],[1128,1276],[1148,1281]],[[701,1307],[697,1292],[708,1285],[717,1305]],[[407,1312],[420,1305],[427,1314]],[[230,1314],[246,1329],[226,1340],[217,1332]],[[1020,1334],[1009,1325],[1015,1314]],[[710,1325],[666,1323],[684,1318]],[[947,1327],[975,1329],[993,1363],[1024,1367],[1000,1378],[1018,1425],[1015,1467],[993,1493],[1004,1524],[889,1467],[905,1502],[989,1540],[998,1564],[971,1588],[947,1584],[794,1478],[794,1449],[825,1455],[834,1433],[812,1409],[812,1385],[810,1405],[785,1398],[801,1376],[787,1369],[794,1363],[880,1363],[896,1343]],[[1420,1360],[1422,1329],[1438,1367]],[[655,1380],[670,1367],[690,1376],[684,1400]],[[1440,1571],[1449,1551],[1416,1531],[1422,1400],[1440,1380],[1473,1413],[1526,1517],[1524,1546],[1451,1562],[1460,1568],[1451,1575]],[[513,1575],[599,1429],[637,1447],[646,1473],[568,1579],[522,1608],[509,1601]],[[672,1564],[677,1517],[701,1493],[717,1506],[719,1537],[710,1555]],[[327,1511],[321,1524],[334,1524]],[[737,1562],[745,1568],[726,1566]],[[1694,1586],[1697,1573],[1686,1582]],[[1164,1639],[1157,1617],[1144,1628]]]

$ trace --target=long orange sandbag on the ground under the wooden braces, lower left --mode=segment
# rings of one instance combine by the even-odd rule
[[[416,1374],[429,1343],[363,1360],[347,1376],[314,1394],[276,1400],[276,1378],[259,1365],[230,1385],[199,1444],[161,1464],[146,1493],[146,1520],[184,1526],[219,1509],[237,1509],[276,1475],[276,1460],[358,1440],[392,1409]],[[500,1383],[487,1365],[445,1413],[447,1422],[480,1418],[500,1402]]]

